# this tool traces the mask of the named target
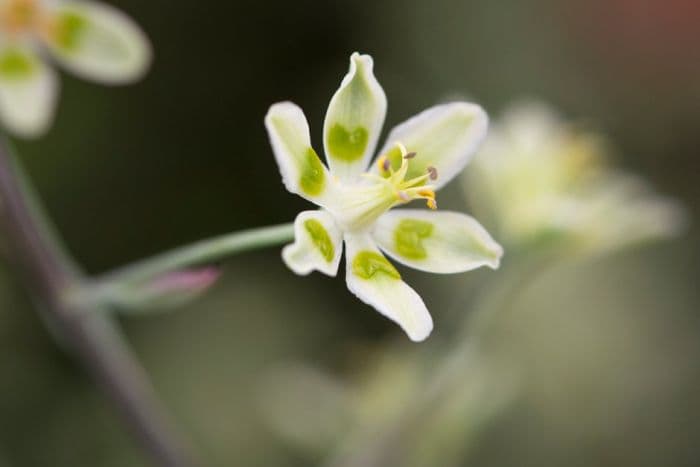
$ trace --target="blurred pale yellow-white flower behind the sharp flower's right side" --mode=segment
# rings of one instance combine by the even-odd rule
[[[677,233],[680,206],[607,167],[605,155],[599,136],[521,103],[494,125],[463,186],[508,246],[564,241],[601,252]]]

